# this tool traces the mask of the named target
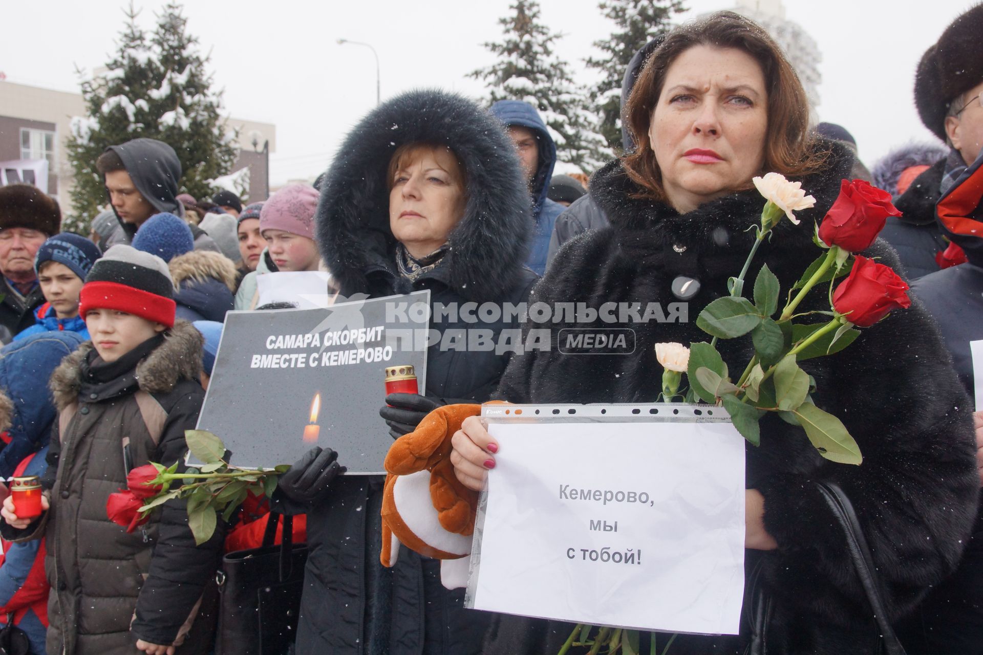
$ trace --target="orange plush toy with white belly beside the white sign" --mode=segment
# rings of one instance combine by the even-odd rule
[[[467,584],[478,492],[454,475],[450,439],[465,418],[480,413],[480,405],[434,409],[415,431],[389,448],[382,496],[382,566],[396,564],[403,544],[443,560],[440,580],[448,589]]]

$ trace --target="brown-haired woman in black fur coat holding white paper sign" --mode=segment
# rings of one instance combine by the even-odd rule
[[[610,226],[582,235],[557,253],[530,302],[689,302],[689,322],[598,324],[632,328],[636,355],[515,357],[498,390],[514,403],[652,403],[661,392],[659,342],[705,341],[694,321],[726,295],[754,241],[764,198],[751,178],[777,171],[816,198],[782,219],[755,258],[788,290],[817,256],[814,223],[838,194],[853,158],[832,142],[810,142],[805,97],[771,38],[729,12],[677,28],[654,53],[629,100],[627,122],[638,149],[595,174],[590,192]],[[896,263],[877,242],[867,256]],[[674,297],[673,281],[699,291]],[[689,289],[694,285],[690,284]],[[828,309],[817,292],[800,310]],[[811,300],[811,306],[807,306]],[[580,325],[580,327],[588,327]],[[746,339],[722,341],[729,362],[752,355]],[[851,499],[892,620],[954,571],[975,513],[979,480],[970,404],[937,329],[919,304],[864,330],[837,355],[810,359],[813,398],[837,415],[864,455],[862,465],[824,460],[801,429],[774,414],[761,422],[761,445],[746,448],[747,580],[774,601],[769,653],[876,653],[879,635],[854,573],[843,534],[816,480],[838,483]],[[507,458],[476,419],[454,435],[458,478],[480,488],[486,461]],[[600,447],[600,445],[599,445]],[[493,464],[492,464],[493,465]],[[750,641],[744,604],[738,636],[679,635],[671,655],[743,653]],[[551,655],[572,626],[499,616],[483,651]],[[661,640],[665,643],[665,638]],[[643,648],[648,652],[647,648]],[[572,652],[579,652],[572,649]]]

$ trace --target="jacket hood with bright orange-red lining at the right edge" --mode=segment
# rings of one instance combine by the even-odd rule
[[[939,198],[936,220],[946,236],[965,251],[969,263],[983,267],[983,156]]]

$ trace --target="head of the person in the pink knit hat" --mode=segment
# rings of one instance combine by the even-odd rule
[[[318,191],[289,185],[273,193],[260,211],[260,234],[269,256],[281,271],[316,271],[320,263],[314,241]]]

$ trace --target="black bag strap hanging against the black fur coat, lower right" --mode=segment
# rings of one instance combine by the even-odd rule
[[[846,497],[843,490],[833,482],[817,482],[816,487],[843,530],[846,549],[849,552],[850,561],[853,563],[853,570],[860,578],[860,584],[863,585],[867,605],[873,614],[873,623],[877,628],[877,634],[880,636],[879,652],[883,655],[905,655],[904,647],[897,638],[895,628],[888,621],[881,590],[881,580],[878,577],[877,568],[874,566],[867,539],[860,528],[860,521],[853,511],[853,504],[850,503],[850,499]],[[751,599],[751,643],[748,646],[747,655],[768,655],[769,653],[768,624],[771,621],[773,599],[758,583],[757,577],[759,575],[760,567],[752,573],[749,580],[750,584],[755,587],[755,591]]]

